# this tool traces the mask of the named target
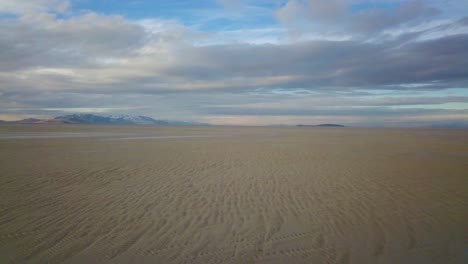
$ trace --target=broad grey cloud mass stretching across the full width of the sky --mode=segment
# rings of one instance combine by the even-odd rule
[[[13,72],[0,78],[16,87],[80,91],[88,85],[100,93],[407,89],[408,84],[443,89],[466,85],[468,76],[468,34],[409,42],[200,46],[194,43],[205,36],[178,24],[163,23],[150,31],[122,17],[92,13],[67,21],[2,26],[23,28],[16,36],[11,30],[0,33],[0,45],[8,51],[0,54],[0,70]]]

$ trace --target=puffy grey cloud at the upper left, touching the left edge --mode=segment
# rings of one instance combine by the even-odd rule
[[[69,19],[37,13],[0,24],[0,70],[80,67],[128,56],[144,44],[143,27],[119,16],[86,13]]]

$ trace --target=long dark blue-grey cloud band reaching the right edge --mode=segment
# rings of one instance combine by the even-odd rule
[[[210,46],[192,50],[179,64],[164,72],[207,81],[285,76],[284,81],[270,85],[283,88],[385,89],[389,85],[396,88],[400,84],[431,83],[444,88],[444,85],[452,87],[453,82],[466,85],[467,41],[468,34],[460,34],[410,43],[310,41],[291,45]]]

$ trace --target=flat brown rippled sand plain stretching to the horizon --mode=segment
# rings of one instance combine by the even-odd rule
[[[1,263],[468,263],[468,131],[0,126]]]

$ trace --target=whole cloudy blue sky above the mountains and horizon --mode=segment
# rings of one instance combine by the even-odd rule
[[[0,0],[0,119],[468,127],[466,0]]]

